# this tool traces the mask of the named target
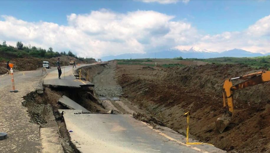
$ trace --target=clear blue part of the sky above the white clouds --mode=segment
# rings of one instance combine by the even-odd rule
[[[136,12],[138,10],[154,11],[160,14],[165,14],[166,16],[174,16],[174,18],[166,20],[171,24],[174,21],[190,24],[192,29],[195,29],[196,31],[195,33],[192,32],[192,34],[197,35],[202,39],[204,36],[210,35],[211,37],[214,37],[215,35],[223,34],[224,32],[230,32],[230,34],[232,34],[237,31],[246,31],[250,26],[256,24],[257,21],[270,15],[269,6],[270,1],[267,0],[190,0],[187,3],[178,1],[176,3],[169,4],[161,4],[159,2],[146,3],[144,0],[1,0],[0,16],[2,17],[0,18],[0,21],[7,21],[4,16],[12,16],[17,20],[22,20],[29,24],[31,23],[31,25],[42,21],[55,23],[59,26],[70,26],[67,19],[67,16],[70,14],[85,15],[88,16],[88,18],[91,18],[89,15],[91,12],[100,11],[101,9],[106,9],[112,14],[114,13],[118,15],[127,15],[129,12]],[[141,16],[143,15],[144,14],[141,14]],[[270,24],[268,20],[264,22]],[[186,30],[187,29],[184,31]],[[182,36],[187,34],[185,33],[180,35]],[[238,38],[238,34],[235,34],[234,36]],[[261,35],[261,38],[264,39],[264,41],[269,41],[268,35]],[[0,37],[0,41],[9,41],[8,39],[9,36]],[[95,38],[95,41],[97,39],[100,40],[103,38]],[[258,40],[258,38],[256,38],[256,40]],[[30,43],[34,40],[26,41],[29,41],[28,43]],[[200,44],[198,41],[199,40],[193,40],[192,38],[192,42],[191,40],[189,42],[180,42],[177,46],[190,47],[194,44]],[[42,44],[42,42],[37,42],[36,44]],[[171,47],[174,47],[176,44],[177,43],[172,44]],[[254,49],[254,43],[251,44],[253,44]],[[257,45],[262,46],[261,44]],[[236,45],[235,47],[232,47],[237,48],[238,46]],[[44,47],[46,47],[46,45]],[[161,48],[168,49],[168,47],[169,46]],[[205,45],[201,45],[200,47],[205,47]],[[143,51],[139,52],[150,51],[152,48],[143,46],[142,49]],[[77,50],[78,47],[76,51]],[[261,50],[261,52],[268,51],[270,52],[270,50]],[[259,51],[253,50],[253,52]]]

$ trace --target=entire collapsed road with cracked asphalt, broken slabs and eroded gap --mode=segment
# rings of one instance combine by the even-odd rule
[[[113,77],[99,78],[96,83],[102,85],[95,85],[96,95],[94,84],[76,79],[71,66],[65,68],[65,79],[60,81],[56,68],[48,69],[47,77],[40,76],[41,70],[16,72],[18,93],[9,92],[8,75],[0,78],[0,132],[8,133],[0,152],[225,152],[208,144],[187,145],[186,138],[172,129],[134,119],[131,114],[140,112],[139,107],[118,97],[121,92],[116,90],[121,88]],[[106,64],[88,65],[82,73],[95,82],[96,74],[107,76],[113,69]],[[111,87],[106,88],[106,82]],[[60,101],[74,101],[89,112],[71,110]]]

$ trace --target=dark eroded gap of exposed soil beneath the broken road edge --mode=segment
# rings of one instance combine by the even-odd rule
[[[81,87],[76,89],[68,87],[43,87],[43,89],[39,89],[24,96],[24,102],[22,102],[22,105],[27,107],[27,112],[30,116],[29,122],[39,125],[41,138],[43,138],[42,132],[47,132],[47,129],[53,129],[55,131],[54,134],[60,134],[58,134],[60,138],[56,135],[55,141],[57,141],[58,144],[59,141],[61,142],[62,150],[65,153],[80,153],[75,144],[70,141],[70,135],[66,128],[64,118],[62,117],[62,114],[58,112],[58,109],[68,109],[58,102],[63,95],[77,102],[90,112],[106,112],[105,107],[95,96],[94,89],[91,87]],[[44,140],[41,139],[41,141]]]

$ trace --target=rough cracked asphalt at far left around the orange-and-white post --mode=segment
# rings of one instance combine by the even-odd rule
[[[42,71],[24,71],[14,73],[15,89],[11,93],[11,76],[0,78],[0,132],[6,132],[8,138],[0,140],[1,153],[39,153],[39,125],[30,123],[27,108],[22,106],[23,96],[42,87]],[[44,74],[44,73],[43,73]]]

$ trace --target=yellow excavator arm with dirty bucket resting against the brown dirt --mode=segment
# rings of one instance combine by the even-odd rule
[[[242,79],[246,77],[251,77],[245,82],[233,85],[232,80]],[[230,124],[233,116],[233,92],[238,89],[243,89],[246,87],[251,87],[257,84],[265,83],[270,81],[270,71],[259,71],[256,73],[246,74],[240,77],[226,79],[223,84],[223,107],[224,114],[219,117],[215,124],[220,133]]]

